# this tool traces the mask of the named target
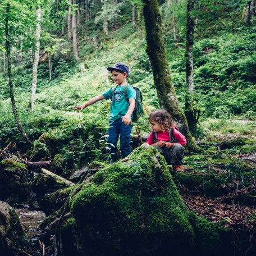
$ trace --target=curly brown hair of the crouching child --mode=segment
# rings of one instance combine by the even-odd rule
[[[148,117],[149,122],[155,121],[163,131],[171,130],[173,126],[172,116],[164,109],[154,110]]]

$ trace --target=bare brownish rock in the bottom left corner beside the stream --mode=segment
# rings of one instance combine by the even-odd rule
[[[21,228],[15,210],[0,201],[0,248],[1,255],[19,255],[19,249],[29,249],[29,242]]]

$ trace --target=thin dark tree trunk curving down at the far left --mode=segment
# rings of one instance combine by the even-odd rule
[[[14,99],[14,92],[13,92],[13,84],[12,84],[12,69],[11,69],[11,50],[10,50],[10,41],[9,41],[9,31],[8,31],[8,17],[10,13],[10,3],[7,3],[6,8],[6,20],[5,20],[5,34],[6,34],[6,52],[7,52],[7,65],[8,65],[8,76],[9,76],[9,85],[10,85],[10,98],[12,102],[12,112],[21,132],[22,137],[26,140],[28,144],[31,145],[31,141],[29,140],[28,136],[26,135],[23,126],[21,125],[20,118],[17,113],[15,99]]]

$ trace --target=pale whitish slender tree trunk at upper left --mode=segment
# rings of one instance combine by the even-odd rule
[[[39,52],[40,52],[40,31],[41,31],[41,8],[38,7],[36,11],[36,42],[35,42],[35,58],[33,64],[33,79],[32,79],[32,87],[31,87],[31,95],[30,95],[30,103],[29,108],[33,111],[34,103],[35,103],[35,92],[37,85],[37,70],[38,70],[38,62],[39,62]]]

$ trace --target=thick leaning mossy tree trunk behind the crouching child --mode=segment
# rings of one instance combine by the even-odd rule
[[[171,113],[182,134],[186,136],[189,150],[196,150],[190,134],[188,122],[176,97],[172,84],[170,68],[162,36],[162,21],[157,0],[143,0],[144,21],[146,29],[147,53],[151,62],[154,84],[157,90],[159,105]]]

